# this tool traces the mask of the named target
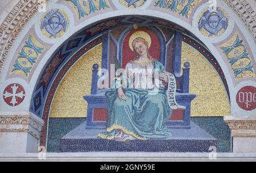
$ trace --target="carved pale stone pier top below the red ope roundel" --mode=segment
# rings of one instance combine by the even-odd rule
[[[256,153],[256,115],[226,116],[231,129],[233,153]]]

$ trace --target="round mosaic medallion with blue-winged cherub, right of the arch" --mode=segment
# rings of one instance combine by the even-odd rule
[[[228,27],[228,18],[225,12],[217,7],[216,10],[206,10],[198,22],[199,30],[204,36],[220,36]]]

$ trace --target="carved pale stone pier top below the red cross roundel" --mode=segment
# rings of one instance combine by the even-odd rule
[[[42,126],[30,112],[0,112],[0,153],[37,152]]]

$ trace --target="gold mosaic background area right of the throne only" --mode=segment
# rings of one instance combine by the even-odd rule
[[[217,71],[190,45],[183,43],[182,47],[181,63],[188,61],[191,65],[189,92],[196,94],[191,103],[191,116],[230,115],[228,95]]]

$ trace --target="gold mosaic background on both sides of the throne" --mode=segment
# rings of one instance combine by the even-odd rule
[[[72,67],[65,75],[52,102],[50,117],[85,117],[87,103],[84,95],[90,94],[92,65],[101,66],[102,45],[98,45]],[[203,55],[183,43],[182,64],[191,64],[190,92],[196,94],[192,101],[191,116],[230,115],[228,95],[216,70]]]

